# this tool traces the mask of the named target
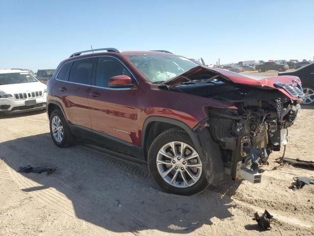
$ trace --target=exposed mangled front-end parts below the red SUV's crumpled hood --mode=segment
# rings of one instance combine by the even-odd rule
[[[237,100],[237,109],[207,108],[207,126],[221,147],[225,172],[233,179],[258,183],[259,165],[268,164],[269,154],[287,144],[287,128],[296,120],[300,105],[279,93],[259,97],[255,92],[257,100]]]

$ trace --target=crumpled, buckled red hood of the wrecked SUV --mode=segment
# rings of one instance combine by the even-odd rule
[[[254,77],[238,74],[229,70],[218,69],[218,68],[209,68],[204,66],[196,66],[181,75],[176,76],[170,80],[167,80],[160,85],[166,85],[169,89],[182,84],[188,80],[199,80],[199,79],[217,79],[223,82],[233,82],[235,84],[242,84],[248,86],[262,87],[264,89],[278,89],[287,95],[292,100],[303,100],[302,97],[293,97],[285,89],[278,88],[275,86],[275,83],[283,83],[289,85],[301,84],[301,81],[296,76],[274,76],[274,77]]]

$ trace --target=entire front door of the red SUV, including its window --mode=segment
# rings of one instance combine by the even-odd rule
[[[93,86],[88,95],[92,129],[129,143],[138,141],[137,88],[109,88],[109,78],[128,75],[128,68],[114,57],[96,61]]]

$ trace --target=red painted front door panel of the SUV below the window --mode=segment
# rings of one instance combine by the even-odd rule
[[[91,88],[99,97],[88,96],[92,129],[129,143],[138,144],[137,89]]]

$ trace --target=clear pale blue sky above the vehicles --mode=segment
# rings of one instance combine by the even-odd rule
[[[0,0],[0,69],[164,49],[215,63],[313,59],[314,0]]]

